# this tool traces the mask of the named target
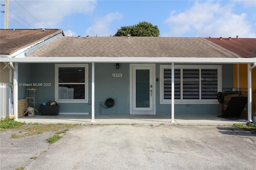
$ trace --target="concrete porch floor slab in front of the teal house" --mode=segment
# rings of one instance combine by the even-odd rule
[[[18,118],[26,123],[69,123],[69,124],[143,124],[143,125],[212,125],[231,126],[234,123],[246,123],[247,120],[230,120],[217,115],[175,115],[170,122],[170,115],[95,115],[95,123],[91,122],[92,115],[57,115],[57,116],[27,116]]]

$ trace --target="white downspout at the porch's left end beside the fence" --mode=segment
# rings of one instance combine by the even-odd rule
[[[14,119],[17,121],[18,120],[18,81],[17,81],[17,69],[18,69],[18,63],[15,63],[15,67],[12,64],[12,62],[10,62],[10,67],[12,67],[13,71],[14,71],[14,78],[13,78],[13,100],[14,100],[14,108],[13,108],[13,112],[14,112]]]

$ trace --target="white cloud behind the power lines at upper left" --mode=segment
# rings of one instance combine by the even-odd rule
[[[34,28],[45,28],[44,26],[47,28],[59,28],[65,16],[76,13],[87,14],[92,12],[96,6],[96,0],[17,0],[16,2],[9,2],[9,10],[17,16],[22,16],[21,18]],[[20,20],[12,13],[9,13],[9,15],[16,21]]]

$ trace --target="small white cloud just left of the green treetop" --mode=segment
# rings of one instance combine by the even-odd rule
[[[113,36],[113,32],[110,32],[111,22],[114,20],[122,19],[122,14],[119,12],[110,13],[102,18],[97,18],[96,22],[92,27],[86,29],[86,36],[100,36],[100,37],[108,37],[110,35]]]

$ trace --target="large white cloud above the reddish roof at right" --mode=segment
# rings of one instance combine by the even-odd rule
[[[255,38],[252,25],[246,22],[247,14],[233,14],[233,5],[221,6],[212,1],[196,1],[192,8],[175,15],[175,11],[165,20],[170,30],[162,36],[184,37],[192,33],[194,37],[235,37]]]

